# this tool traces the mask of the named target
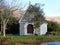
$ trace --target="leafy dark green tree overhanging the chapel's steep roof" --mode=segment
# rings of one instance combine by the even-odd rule
[[[24,19],[29,22],[34,22],[35,28],[39,27],[44,19],[44,13],[40,7],[40,4],[29,5]]]

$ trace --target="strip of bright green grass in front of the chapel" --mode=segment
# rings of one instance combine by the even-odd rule
[[[36,35],[32,35],[32,36],[17,36],[17,35],[8,35],[6,36],[6,38],[10,39],[10,41],[37,41],[37,40],[46,40],[46,41],[49,41],[49,40],[60,40],[60,36],[58,35],[55,35],[55,36],[45,36],[45,35],[42,35],[42,36],[36,36]],[[0,39],[3,39],[2,36],[0,36]]]

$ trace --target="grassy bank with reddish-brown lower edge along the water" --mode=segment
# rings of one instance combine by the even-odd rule
[[[7,44],[13,44],[13,43],[36,43],[36,42],[46,42],[46,41],[60,41],[60,36],[55,35],[55,36],[17,36],[17,35],[7,35],[6,37],[0,36],[0,40],[2,42],[5,42]]]

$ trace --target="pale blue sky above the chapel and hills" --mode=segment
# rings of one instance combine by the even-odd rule
[[[14,1],[13,4],[12,1]],[[43,6],[43,11],[45,16],[60,16],[60,0],[6,0],[6,4],[8,5],[17,5],[17,7],[27,7],[31,1],[31,4],[40,3],[45,4]]]

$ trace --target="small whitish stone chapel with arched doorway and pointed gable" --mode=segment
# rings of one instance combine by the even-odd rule
[[[31,18],[34,14],[28,14],[22,16],[19,20],[19,34],[20,35],[45,35],[47,32],[47,22],[42,21],[42,24],[38,28],[34,28],[34,22],[31,22]]]

